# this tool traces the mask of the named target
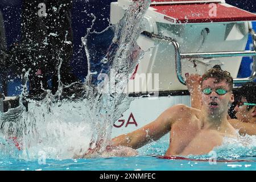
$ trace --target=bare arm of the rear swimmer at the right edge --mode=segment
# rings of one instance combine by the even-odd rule
[[[256,135],[255,123],[244,123],[237,119],[230,119],[229,123],[238,130],[240,135]]]

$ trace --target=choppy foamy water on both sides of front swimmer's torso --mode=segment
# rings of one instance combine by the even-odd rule
[[[237,130],[238,134],[238,130]],[[189,159],[199,159],[208,162],[216,157],[216,160],[242,160],[256,156],[256,136],[238,134],[238,138],[225,137],[221,146],[214,147],[212,152],[205,155],[181,156]],[[170,135],[167,134],[158,141],[148,143],[138,149],[139,155],[164,156],[170,144]],[[216,154],[216,155],[213,155]]]

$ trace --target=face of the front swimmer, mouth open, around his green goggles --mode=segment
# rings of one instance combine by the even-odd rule
[[[201,92],[202,109],[205,109],[208,114],[226,114],[228,112],[229,102],[234,102],[234,95],[232,94],[227,82],[225,80],[216,82],[215,78],[208,78],[207,80],[204,80],[201,85],[202,90],[206,88],[209,88],[210,90],[212,90],[212,92],[209,94]],[[224,89],[227,92],[221,95],[215,92],[215,90],[217,89]]]

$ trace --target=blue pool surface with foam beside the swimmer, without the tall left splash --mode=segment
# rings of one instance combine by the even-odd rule
[[[138,149],[139,155],[133,157],[111,157],[93,159],[33,159],[23,160],[3,155],[0,170],[18,171],[254,171],[256,170],[255,147],[223,146],[215,148],[216,163],[211,155],[188,156],[189,159],[161,159],[168,147],[166,135]],[[250,137],[249,137],[250,138]],[[254,143],[255,137],[250,138]],[[244,140],[249,140],[248,137]],[[244,142],[244,141],[243,141]],[[253,144],[254,145],[254,144]],[[236,143],[236,146],[239,146]]]

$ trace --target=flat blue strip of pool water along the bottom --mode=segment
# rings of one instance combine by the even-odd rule
[[[47,159],[46,164],[39,164],[38,160],[26,161],[12,158],[2,159],[0,170],[19,170],[19,171],[48,171],[48,170],[93,170],[93,171],[208,171],[208,170],[256,170],[256,158],[245,157],[243,160],[254,162],[209,162],[189,161],[189,160],[168,160],[158,159],[154,156],[135,156],[129,158],[107,158],[107,159]]]

